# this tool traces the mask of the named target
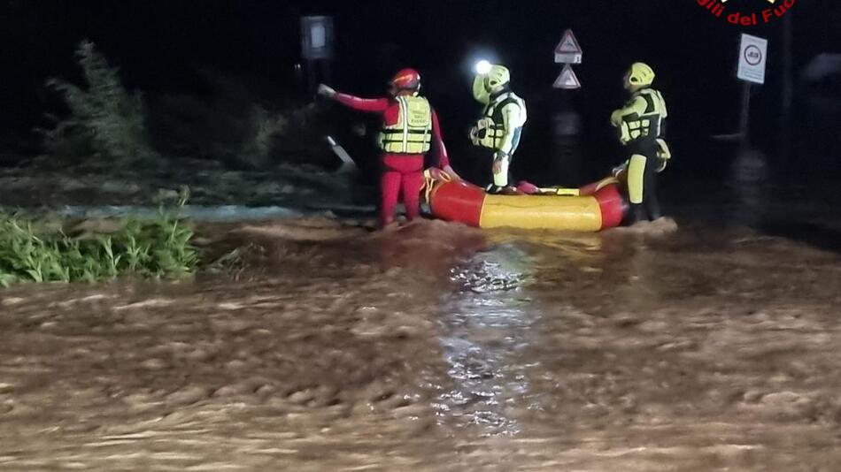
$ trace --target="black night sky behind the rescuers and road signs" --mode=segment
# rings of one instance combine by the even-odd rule
[[[729,2],[735,4],[760,0]],[[698,126],[726,133],[737,123],[740,85],[733,75],[742,30],[696,0],[4,0],[4,135],[25,132],[50,108],[43,80],[78,74],[73,49],[84,37],[120,65],[129,86],[150,95],[195,92],[195,71],[210,67],[248,78],[261,100],[276,103],[295,88],[305,14],[335,17],[339,88],[376,94],[395,68],[413,65],[455,133],[475,113],[467,67],[480,50],[511,67],[536,117],[548,112],[559,72],[552,48],[567,27],[584,49],[584,63],[575,67],[584,84],[576,103],[594,123],[621,101],[622,72],[635,60],[659,73],[673,133],[696,133]],[[798,0],[790,14],[798,67],[817,53],[841,52],[837,2]],[[755,95],[760,117],[773,114],[780,95],[782,30],[782,22],[745,29],[771,41],[768,84]]]

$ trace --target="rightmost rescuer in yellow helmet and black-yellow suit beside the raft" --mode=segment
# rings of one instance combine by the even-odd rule
[[[630,99],[621,109],[613,111],[610,121],[630,155],[621,167],[627,174],[629,223],[633,224],[662,216],[656,176],[666,168],[671,153],[663,140],[668,117],[666,101],[652,88],[654,71],[649,65],[635,63],[625,74],[624,82]]]

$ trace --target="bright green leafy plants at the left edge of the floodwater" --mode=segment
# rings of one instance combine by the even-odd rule
[[[86,225],[51,227],[42,219],[0,214],[0,285],[95,282],[129,274],[179,277],[197,269],[193,235],[177,215],[163,209],[153,220],[125,218],[104,233]]]

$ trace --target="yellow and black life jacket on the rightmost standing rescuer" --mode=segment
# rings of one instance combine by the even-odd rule
[[[644,106],[640,106],[642,98]],[[643,88],[631,96],[628,104],[613,112],[612,120],[620,127],[620,140],[632,141],[662,137],[668,111],[663,95],[653,88]]]

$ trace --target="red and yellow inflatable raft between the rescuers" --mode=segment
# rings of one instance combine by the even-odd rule
[[[536,189],[536,194],[487,194],[464,180],[427,174],[432,215],[478,228],[514,227],[598,232],[621,225],[628,208],[610,177],[577,189]],[[532,186],[533,187],[533,186]]]

